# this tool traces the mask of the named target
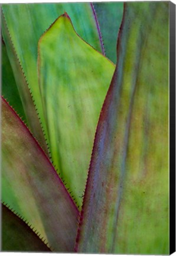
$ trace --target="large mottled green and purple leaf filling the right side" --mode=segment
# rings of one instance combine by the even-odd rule
[[[128,2],[76,251],[168,254],[168,2]]]

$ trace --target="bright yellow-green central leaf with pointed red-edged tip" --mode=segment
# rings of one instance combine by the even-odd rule
[[[38,43],[38,77],[51,156],[78,205],[99,113],[115,66],[61,15]]]

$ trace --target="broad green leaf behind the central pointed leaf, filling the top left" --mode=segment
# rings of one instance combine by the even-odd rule
[[[45,133],[45,139],[48,139],[37,78],[38,40],[50,24],[53,23],[59,15],[63,14],[64,11],[67,11],[69,12],[80,36],[95,49],[101,50],[99,34],[97,33],[92,9],[90,8],[89,3],[4,4],[2,5],[2,11],[17,56],[19,57],[19,62],[22,65],[27,77],[28,86],[34,97],[37,112]],[[5,39],[5,42],[6,40],[8,39]],[[9,59],[11,62],[14,62],[13,58],[14,56],[11,56],[10,53]],[[14,71],[14,74],[17,76],[18,80],[18,73]],[[38,136],[36,137],[38,141],[40,141]]]

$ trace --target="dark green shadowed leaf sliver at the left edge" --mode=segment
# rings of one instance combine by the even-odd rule
[[[2,43],[2,95],[13,105],[19,116],[26,122],[24,109],[22,107],[21,98],[19,96],[17,84],[15,82],[14,74],[9,63],[8,55],[6,53],[5,44]]]

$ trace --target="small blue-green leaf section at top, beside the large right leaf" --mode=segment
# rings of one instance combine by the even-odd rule
[[[123,2],[93,2],[106,56],[116,63],[116,43],[123,16]]]

